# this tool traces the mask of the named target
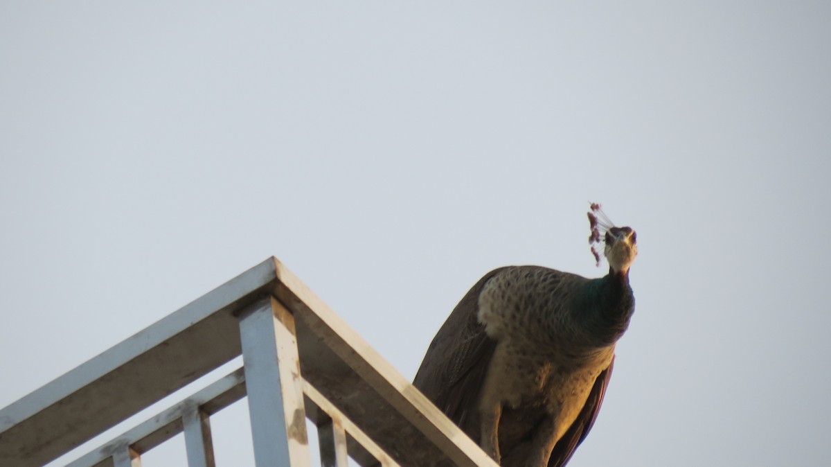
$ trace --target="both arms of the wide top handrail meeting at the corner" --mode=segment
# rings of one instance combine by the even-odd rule
[[[342,412],[344,423],[351,420],[376,440],[387,455],[378,459],[381,464],[387,459],[404,466],[495,467],[275,258],[0,410],[0,465],[46,464],[238,356],[240,313],[269,295],[295,318],[303,376]],[[223,403],[209,401],[202,410],[213,413],[211,405]],[[134,448],[144,452],[179,432],[177,420]],[[344,427],[352,459],[370,465],[364,462],[371,456],[361,457],[352,447],[353,431]]]

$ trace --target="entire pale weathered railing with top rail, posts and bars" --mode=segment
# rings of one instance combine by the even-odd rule
[[[71,467],[138,467],[184,432],[190,467],[213,467],[210,416],[248,397],[258,466],[307,466],[306,420],[324,466],[492,460],[276,258],[199,297],[0,410],[0,465],[44,465],[243,356],[243,367]]]

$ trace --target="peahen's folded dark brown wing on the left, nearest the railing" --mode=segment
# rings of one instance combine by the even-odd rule
[[[413,385],[463,430],[465,420],[477,414],[479,391],[496,347],[477,317],[479,293],[504,269],[485,274],[465,294],[430,342],[413,380]],[[468,435],[478,439],[478,433]]]

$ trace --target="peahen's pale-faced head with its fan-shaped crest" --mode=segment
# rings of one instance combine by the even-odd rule
[[[588,243],[592,245],[592,254],[597,260],[597,266],[600,266],[600,253],[597,253],[594,245],[599,246],[602,241],[604,243],[603,256],[609,262],[612,273],[626,276],[637,256],[635,231],[631,227],[616,227],[600,209],[600,204],[592,203],[591,208],[592,210],[588,213],[588,223],[592,234],[588,237]],[[602,237],[601,231],[604,233]]]

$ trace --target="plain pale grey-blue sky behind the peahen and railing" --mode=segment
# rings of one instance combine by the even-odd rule
[[[637,230],[637,310],[569,467],[831,465],[829,24],[4,1],[0,406],[271,255],[411,378],[490,269],[605,273],[597,201]],[[219,465],[248,462],[227,436]]]

